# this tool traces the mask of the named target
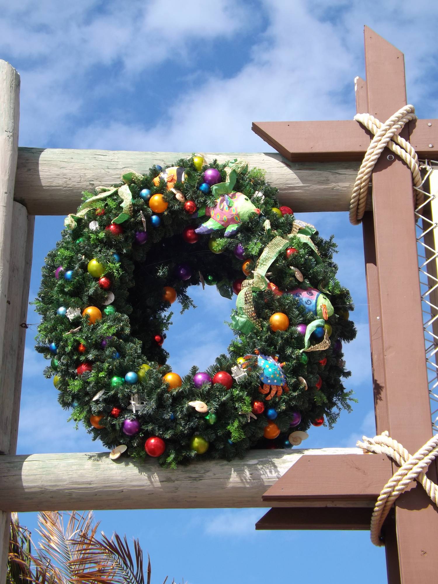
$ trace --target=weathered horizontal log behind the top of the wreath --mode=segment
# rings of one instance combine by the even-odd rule
[[[126,152],[108,150],[52,150],[19,148],[14,198],[33,215],[67,215],[81,203],[81,193],[120,182],[127,169],[147,172],[187,152]],[[250,167],[266,171],[266,180],[279,189],[281,203],[300,213],[346,211],[359,163],[289,162],[280,154],[206,152],[207,161],[244,158]]]

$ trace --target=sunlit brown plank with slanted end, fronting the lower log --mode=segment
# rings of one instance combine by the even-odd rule
[[[303,455],[262,499],[270,503],[307,499],[367,500],[374,505],[391,476],[391,463],[385,456]]]

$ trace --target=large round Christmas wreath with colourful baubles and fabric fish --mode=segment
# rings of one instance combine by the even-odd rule
[[[121,176],[84,203],[43,267],[37,350],[63,408],[117,458],[242,456],[290,448],[350,409],[342,341],[355,329],[335,244],[279,207],[244,161]],[[187,288],[237,294],[235,338],[206,371],[166,365],[170,305]],[[182,339],[183,341],[189,339]]]

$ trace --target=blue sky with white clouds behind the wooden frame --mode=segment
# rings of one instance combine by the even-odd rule
[[[419,117],[437,117],[430,3],[416,2],[415,13],[408,2],[376,6],[370,0],[0,0],[0,57],[22,79],[20,145],[269,151],[251,132],[252,121],[353,117],[353,79],[364,77],[364,24],[404,51],[408,101]],[[359,404],[335,429],[312,429],[306,446],[354,446],[375,430],[361,229],[343,213],[299,217],[324,236],[335,234],[339,279],[352,291],[358,329],[345,353],[353,373],[347,387]],[[62,221],[37,218],[31,298]],[[199,308],[176,314],[166,340],[180,374],[192,364],[210,364],[231,336],[222,324],[230,301],[211,288],[193,297]],[[30,310],[27,321],[39,317]],[[67,424],[51,381],[41,374],[35,332],[31,326],[27,333],[19,453],[102,450],[85,430]],[[386,582],[384,551],[371,545],[369,533],[255,532],[262,515],[262,509],[96,512],[107,534],[116,529],[140,537],[157,582],[166,574],[190,584]],[[23,513],[22,522],[33,528],[35,515]]]

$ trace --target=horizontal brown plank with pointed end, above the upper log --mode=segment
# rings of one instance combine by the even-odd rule
[[[362,106],[358,113],[366,113],[367,109]],[[385,109],[378,117],[381,122],[397,110],[387,115],[388,111],[388,108]],[[373,115],[376,116],[376,113]],[[428,126],[429,123],[432,125]],[[408,127],[409,133],[412,133],[411,144],[418,155],[436,158],[438,120],[416,120]],[[252,131],[292,162],[361,160],[370,144],[369,131],[354,120],[253,121]]]

